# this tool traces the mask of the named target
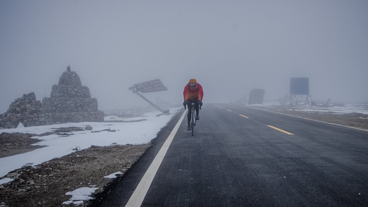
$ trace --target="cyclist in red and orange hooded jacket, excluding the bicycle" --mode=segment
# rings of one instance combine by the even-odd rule
[[[203,98],[203,89],[202,86],[197,83],[197,80],[195,79],[190,79],[188,84],[184,87],[184,103],[183,105],[187,105],[188,104],[188,126],[187,126],[187,130],[190,130],[190,120],[192,118],[192,114],[191,114],[191,110],[192,110],[192,105],[191,103],[194,102],[195,103],[195,112],[197,114],[197,116],[195,117],[196,120],[199,120],[199,106],[202,106],[202,98]]]

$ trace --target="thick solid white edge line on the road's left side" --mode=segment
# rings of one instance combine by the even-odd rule
[[[151,165],[149,165],[146,173],[143,175],[137,188],[134,190],[132,196],[130,197],[130,199],[128,200],[128,203],[125,206],[141,206],[142,205],[143,199],[148,192],[149,186],[151,186],[153,178],[155,177],[156,172],[161,165],[163,157],[165,156],[167,149],[169,149],[171,141],[174,139],[174,136],[176,135],[176,132],[178,131],[178,128],[181,122],[183,121],[185,115],[186,113],[184,111],[183,115],[181,115],[173,131],[171,131],[170,135],[167,137],[166,141],[163,143],[160,151],[157,153],[155,159],[153,159]]]

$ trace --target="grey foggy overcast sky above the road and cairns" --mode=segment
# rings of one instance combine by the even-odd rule
[[[315,100],[368,101],[368,1],[0,1],[0,113],[68,65],[99,110],[147,105],[128,88],[157,78],[153,102],[181,104],[191,78],[204,103],[278,99],[296,77]]]

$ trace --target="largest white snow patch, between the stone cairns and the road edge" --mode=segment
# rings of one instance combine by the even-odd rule
[[[73,152],[72,148],[80,147],[86,149],[95,146],[109,146],[116,144],[144,144],[154,139],[160,129],[170,121],[171,117],[180,108],[170,108],[170,115],[156,115],[161,114],[159,111],[142,114],[141,117],[134,118],[119,118],[115,117],[115,121],[134,121],[140,119],[147,119],[138,122],[81,122],[81,123],[64,123],[47,126],[31,126],[24,127],[19,125],[16,129],[0,129],[0,133],[7,132],[21,132],[21,133],[35,133],[41,134],[45,132],[53,132],[53,129],[61,127],[81,127],[86,125],[93,127],[91,131],[77,131],[68,134],[70,136],[48,135],[35,136],[32,138],[41,139],[42,141],[33,145],[46,145],[47,147],[35,149],[33,151],[17,154],[14,156],[0,158],[0,177],[6,175],[14,169],[21,168],[23,165],[38,165],[55,157],[62,157]],[[108,117],[109,121],[112,118]],[[105,117],[106,120],[106,117]],[[102,131],[104,129],[115,130]],[[100,131],[100,132],[95,132]],[[10,179],[1,179],[0,184],[9,182]]]

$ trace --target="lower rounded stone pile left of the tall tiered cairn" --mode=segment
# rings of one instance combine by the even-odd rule
[[[36,100],[34,92],[15,99],[8,111],[0,114],[2,128],[16,128],[19,123],[24,126],[49,125],[50,122],[50,114],[45,113],[41,101]]]

